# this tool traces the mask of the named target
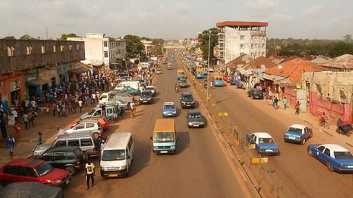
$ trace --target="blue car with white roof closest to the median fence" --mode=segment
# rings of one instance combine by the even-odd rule
[[[255,150],[258,154],[278,155],[280,150],[273,140],[272,136],[265,132],[255,132],[246,135],[249,144],[255,144]]]

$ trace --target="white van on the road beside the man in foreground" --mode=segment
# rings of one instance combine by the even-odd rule
[[[112,134],[102,151],[101,176],[127,176],[133,154],[134,142],[131,133]]]

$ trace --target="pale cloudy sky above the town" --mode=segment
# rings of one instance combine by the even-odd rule
[[[225,20],[267,21],[268,38],[353,35],[352,0],[0,0],[0,37],[62,33],[196,37]]]

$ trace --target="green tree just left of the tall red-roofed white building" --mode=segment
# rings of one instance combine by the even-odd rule
[[[209,41],[209,35],[210,37],[210,58],[213,57],[213,48],[217,45],[218,42],[218,37],[217,34],[219,33],[218,28],[213,27],[208,30],[204,30],[202,34],[199,34],[199,47],[202,51],[202,57],[204,60],[207,60],[208,58],[208,41]]]

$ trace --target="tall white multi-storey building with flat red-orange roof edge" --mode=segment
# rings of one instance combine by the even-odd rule
[[[222,66],[243,54],[253,59],[266,56],[267,22],[224,21],[217,23],[218,59]]]

